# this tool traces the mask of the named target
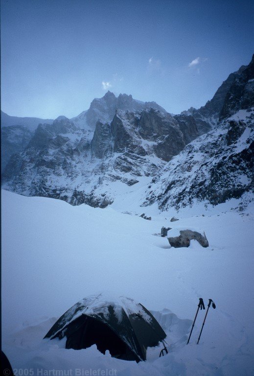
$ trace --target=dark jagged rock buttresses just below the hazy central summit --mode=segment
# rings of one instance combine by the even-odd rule
[[[191,116],[173,118],[154,109],[118,110],[111,124],[97,121],[91,152],[100,159],[114,152],[140,156],[155,154],[167,162],[197,136],[196,123]]]

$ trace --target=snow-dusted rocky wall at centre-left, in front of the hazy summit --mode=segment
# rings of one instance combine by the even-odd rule
[[[111,123],[98,120],[94,132],[59,117],[40,124],[25,150],[12,155],[3,188],[105,207],[114,201],[112,182],[132,186],[142,176],[155,176],[196,137],[193,118],[154,108],[117,110]]]

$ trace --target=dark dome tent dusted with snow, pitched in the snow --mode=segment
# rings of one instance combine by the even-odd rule
[[[92,295],[73,305],[44,338],[67,337],[66,349],[97,349],[123,360],[146,360],[147,347],[159,345],[166,334],[143,305],[130,298]],[[164,345],[164,343],[163,343]]]

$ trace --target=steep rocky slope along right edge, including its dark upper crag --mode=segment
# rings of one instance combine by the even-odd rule
[[[254,58],[231,76],[230,84],[220,122],[152,180],[144,206],[157,202],[161,210],[180,209],[197,201],[217,205],[231,198],[253,198]]]

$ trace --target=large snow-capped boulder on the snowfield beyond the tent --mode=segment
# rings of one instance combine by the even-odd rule
[[[179,236],[169,236],[167,239],[171,247],[180,248],[180,247],[189,247],[190,240],[197,240],[202,247],[208,247],[208,239],[206,234],[198,233],[197,231],[192,230],[179,230]],[[170,235],[170,233],[169,233]],[[172,234],[174,235],[174,234]]]

